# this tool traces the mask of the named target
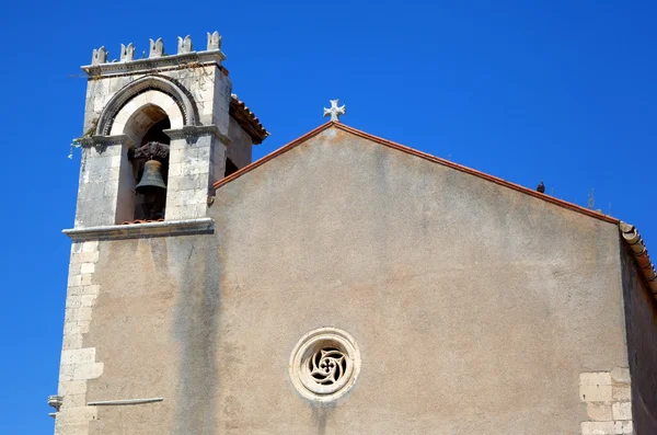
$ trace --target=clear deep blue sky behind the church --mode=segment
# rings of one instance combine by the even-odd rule
[[[652,4],[650,4],[652,3]],[[105,45],[223,36],[233,92],[272,137],[343,122],[636,225],[657,261],[657,3],[618,1],[7,2],[0,434],[51,433],[87,82]]]

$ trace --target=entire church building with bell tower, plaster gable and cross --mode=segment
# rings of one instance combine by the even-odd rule
[[[657,433],[634,227],[337,104],[251,162],[217,33],[134,53],[83,67],[56,435]]]

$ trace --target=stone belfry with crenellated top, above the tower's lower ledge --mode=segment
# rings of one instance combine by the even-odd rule
[[[186,36],[178,37],[175,55],[160,38],[150,41],[148,58],[136,59],[132,44],[120,46],[118,61],[107,56],[104,47],[95,49],[82,68],[89,87],[85,134],[78,139],[83,159],[76,230],[148,220],[175,227],[206,217],[211,184],[250,163],[252,144],[267,136],[231,93],[221,37],[208,33],[203,51]],[[151,216],[143,207],[149,198],[135,190],[146,182],[150,160],[159,160],[165,179],[162,204]]]

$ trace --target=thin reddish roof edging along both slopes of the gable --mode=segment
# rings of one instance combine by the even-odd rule
[[[274,151],[274,152],[272,152],[272,153],[263,157],[262,159],[258,159],[258,160],[254,161],[251,164],[247,164],[246,167],[244,167],[244,168],[240,169],[239,171],[230,174],[229,176],[215,182],[212,184],[212,187],[215,190],[217,190],[217,188],[221,187],[222,185],[228,184],[228,183],[230,183],[231,181],[233,181],[235,179],[239,179],[240,176],[244,175],[245,173],[249,173],[249,172],[253,171],[257,167],[261,167],[261,165],[265,164],[269,160],[275,159],[276,157],[278,157],[278,156],[280,156],[280,154],[283,154],[283,153],[291,150],[292,148],[296,148],[298,145],[304,142],[306,140],[310,139],[313,136],[319,135],[320,133],[324,131],[325,129],[327,129],[330,127],[339,128],[341,130],[344,130],[344,131],[350,133],[353,135],[359,136],[359,137],[361,137],[364,139],[368,139],[368,140],[373,141],[373,142],[383,145],[385,147],[389,147],[389,148],[392,148],[392,149],[396,149],[397,151],[402,151],[402,152],[405,152],[407,154],[415,156],[415,157],[418,157],[420,159],[428,160],[430,162],[438,163],[438,164],[441,164],[443,167],[451,168],[451,169],[454,169],[454,170],[460,171],[460,172],[464,172],[464,173],[470,174],[470,175],[474,175],[476,178],[489,181],[489,182],[495,183],[495,184],[499,184],[502,186],[511,188],[511,190],[514,190],[516,192],[520,192],[520,193],[523,193],[526,195],[533,196],[535,198],[545,201],[548,203],[557,205],[560,207],[563,207],[563,208],[567,208],[569,210],[579,213],[581,215],[590,216],[592,218],[596,218],[596,219],[599,219],[599,220],[603,220],[603,221],[610,222],[610,224],[615,224],[615,225],[620,224],[620,220],[616,219],[616,218],[614,218],[614,217],[612,217],[612,216],[608,216],[608,215],[604,215],[602,213],[595,211],[595,210],[591,210],[589,208],[585,208],[585,207],[578,206],[577,204],[568,203],[567,201],[555,198],[554,196],[550,196],[550,195],[546,195],[546,194],[533,191],[531,188],[521,186],[519,184],[511,183],[511,182],[506,181],[504,179],[500,179],[498,176],[494,176],[494,175],[491,175],[491,174],[477,171],[475,169],[468,168],[468,167],[464,167],[462,164],[458,164],[458,163],[454,163],[452,161],[449,161],[449,160],[446,160],[446,159],[441,159],[439,157],[431,156],[431,154],[428,154],[426,152],[418,151],[416,149],[406,147],[404,145],[396,144],[396,142],[393,142],[393,141],[388,140],[388,139],[383,139],[383,138],[378,137],[378,136],[370,135],[369,133],[361,131],[361,130],[359,130],[357,128],[354,128],[354,127],[349,127],[349,126],[344,125],[342,123],[336,123],[334,121],[330,121],[330,122],[327,122],[325,124],[320,125],[319,127],[316,127],[316,128],[308,131],[306,135],[303,135],[301,137],[298,137],[297,139],[295,139],[291,142],[283,146],[281,148],[277,149],[276,151]]]

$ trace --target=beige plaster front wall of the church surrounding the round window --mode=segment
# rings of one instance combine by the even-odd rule
[[[336,128],[210,216],[100,242],[87,400],[164,401],[99,408],[90,434],[575,434],[580,374],[627,366],[611,224]],[[288,375],[320,327],[362,358],[330,404]]]

